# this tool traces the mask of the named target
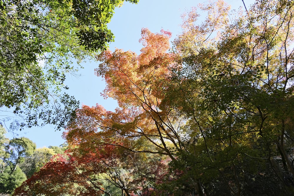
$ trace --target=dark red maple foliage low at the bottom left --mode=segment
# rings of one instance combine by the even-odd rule
[[[111,153],[111,149],[109,149]],[[75,153],[74,153],[75,154]],[[56,155],[50,162],[26,180],[15,195],[103,195],[104,190],[96,174],[105,155],[93,151],[83,155]],[[41,179],[42,178],[42,179]]]

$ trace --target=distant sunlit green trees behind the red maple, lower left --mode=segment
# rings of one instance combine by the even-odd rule
[[[27,178],[38,172],[53,156],[56,151],[64,153],[61,145],[50,148],[38,148],[36,144],[25,137],[5,137],[5,129],[0,126],[0,193],[11,194]]]

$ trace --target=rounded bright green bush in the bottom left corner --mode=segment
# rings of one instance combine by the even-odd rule
[[[26,175],[19,167],[16,167],[12,173],[10,168],[6,167],[4,172],[0,173],[0,192],[10,194],[25,180]]]

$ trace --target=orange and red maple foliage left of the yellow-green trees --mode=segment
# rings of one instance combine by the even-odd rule
[[[131,74],[130,76],[126,76],[119,68],[117,69],[116,65],[111,67],[109,73],[118,74],[121,77],[119,81],[116,81],[116,85],[120,85],[121,87],[117,89],[118,91],[128,87],[124,86],[124,84],[132,85],[132,83],[129,82],[129,78],[136,79],[132,74],[135,76],[136,74],[142,74],[142,80],[146,79],[145,83],[141,83],[141,80],[137,80],[132,90],[136,91],[139,95],[141,89],[137,88],[136,85],[141,85],[142,89],[148,86],[148,88],[146,88],[146,96],[149,95],[149,97],[146,98],[148,101],[145,101],[147,111],[136,109],[135,106],[141,106],[141,100],[136,100],[136,97],[132,97],[128,92],[124,93],[129,95],[128,100],[122,100],[124,97],[119,93],[116,94],[122,98],[118,99],[121,100],[119,104],[122,106],[122,109],[117,109],[116,113],[105,111],[100,105],[93,108],[83,106],[83,108],[77,112],[78,118],[70,125],[70,131],[64,134],[64,137],[69,143],[69,161],[48,163],[45,165],[44,169],[41,169],[40,172],[36,173],[27,180],[24,185],[19,187],[15,194],[23,193],[30,195],[38,189],[38,193],[56,195],[57,192],[55,191],[59,191],[56,187],[60,186],[66,187],[63,191],[66,191],[68,194],[77,194],[79,191],[73,188],[76,183],[88,190],[89,192],[87,192],[87,194],[92,194],[93,192],[93,194],[97,195],[103,190],[103,184],[101,184],[99,180],[113,184],[115,187],[121,189],[122,194],[129,196],[139,192],[143,195],[150,195],[155,191],[156,183],[164,181],[161,179],[166,173],[163,168],[167,167],[160,163],[158,159],[156,160],[156,158],[154,158],[153,161],[145,162],[150,170],[145,170],[146,172],[144,172],[142,168],[145,164],[139,164],[134,161],[136,157],[131,155],[128,150],[146,153],[146,155],[150,154],[150,156],[151,154],[157,153],[163,157],[169,156],[171,159],[176,160],[176,154],[172,149],[174,145],[176,145],[176,147],[178,147],[178,145],[173,137],[168,138],[162,136],[162,133],[158,132],[160,128],[158,127],[158,129],[156,129],[156,125],[152,124],[152,118],[148,118],[158,118],[157,115],[160,113],[159,108],[156,108],[156,112],[156,110],[153,111],[152,108],[154,107],[152,105],[147,105],[156,104],[156,96],[161,96],[164,90],[164,84],[168,81],[168,76],[170,76],[167,67],[172,65],[175,59],[173,54],[165,52],[169,48],[168,38],[170,36],[171,33],[167,31],[162,31],[161,34],[154,34],[148,29],[143,29],[141,41],[146,47],[142,49],[143,53],[141,56],[136,56],[136,54],[130,51],[123,52],[122,50],[117,50],[113,56],[109,51],[105,51],[101,55],[101,58],[109,57],[109,61],[107,62],[109,64],[115,62],[116,58],[121,58],[123,63],[120,68],[126,71],[129,62],[140,62],[140,66],[133,64],[133,71],[128,71],[128,73]],[[101,67],[102,66],[103,65],[101,65]],[[141,73],[141,71],[145,72]],[[158,86],[158,84],[162,84],[163,87],[160,85]],[[152,90],[151,92],[150,90],[153,88],[154,91]],[[149,101],[152,101],[152,103]],[[124,104],[126,104],[126,107],[124,107]],[[133,105],[133,108],[129,109],[129,105]],[[155,114],[153,114],[153,112],[155,112]],[[140,118],[142,121],[138,120],[137,122],[133,122],[136,118]],[[136,129],[136,126],[141,126],[142,132],[141,130],[136,131],[129,129],[130,127]],[[103,129],[103,131],[98,131],[97,128]],[[174,143],[165,142],[163,137],[173,140]],[[157,140],[159,140],[159,142]],[[160,142],[163,143],[161,144]],[[135,149],[133,149],[132,146],[136,146]],[[140,157],[139,155],[136,156]],[[137,160],[141,159],[138,158]],[[151,167],[151,165],[153,167]],[[133,168],[134,166],[137,167],[135,170]],[[139,166],[142,166],[141,170]],[[52,172],[57,170],[64,172],[62,172],[62,175],[59,172],[56,173],[57,175],[54,175]],[[105,174],[106,179],[98,179],[95,176],[98,174]],[[42,176],[44,180],[41,180],[40,176]],[[70,180],[69,182],[68,179],[77,180]],[[50,184],[48,183],[49,181],[51,182]],[[85,181],[88,183],[83,184]],[[54,183],[52,184],[52,182]],[[40,189],[40,183],[44,183],[44,187],[46,187],[44,190]],[[106,190],[104,190],[104,193],[110,195]]]

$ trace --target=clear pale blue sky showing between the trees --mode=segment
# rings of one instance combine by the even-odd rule
[[[181,33],[181,14],[189,11],[192,6],[206,1],[197,0],[140,0],[138,4],[125,2],[120,8],[116,8],[115,14],[108,25],[115,36],[115,41],[110,44],[110,50],[122,48],[125,51],[131,50],[137,54],[142,48],[138,40],[141,38],[141,29],[148,28],[152,32],[159,32],[161,29],[169,30],[173,33],[171,40]],[[233,9],[238,9],[244,5],[242,0],[226,0]],[[253,0],[244,0],[247,9]],[[199,19],[201,22],[201,18]],[[75,96],[84,105],[93,106],[96,103],[103,105],[106,110],[114,110],[117,107],[116,101],[103,99],[100,96],[105,88],[102,78],[94,75],[94,69],[99,62],[83,63],[84,69],[79,71],[81,76],[68,76],[66,85],[70,95]],[[48,146],[59,146],[65,141],[61,138],[62,131],[55,131],[50,125],[45,127],[34,127],[18,132],[18,137],[30,138],[36,143],[37,148]],[[9,138],[13,135],[7,134]]]

